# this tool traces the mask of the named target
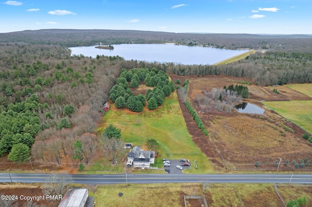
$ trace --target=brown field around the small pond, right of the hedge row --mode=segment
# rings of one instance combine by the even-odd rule
[[[196,111],[199,110],[195,101],[198,94],[202,95],[203,91],[210,91],[212,88],[222,88],[231,84],[235,86],[238,81],[243,80],[224,76],[181,77],[171,75],[171,78],[173,81],[179,79],[181,83],[189,78],[188,99],[193,103]],[[312,145],[301,138],[305,133],[304,130],[261,103],[264,100],[312,100],[311,97],[286,86],[276,86],[280,92],[278,95],[273,92],[273,86],[269,88],[268,86],[248,85],[248,88],[250,98],[243,101],[265,109],[266,116],[243,114],[235,110],[230,114],[217,111],[201,113],[199,116],[209,132],[209,137],[203,136],[201,131],[196,128],[190,113],[180,100],[189,132],[196,145],[216,164],[215,170],[221,170],[221,166],[225,167],[223,170],[227,171],[276,170],[273,163],[275,160],[279,161],[279,158],[283,160],[281,163],[287,159],[290,163],[292,160],[299,163],[299,160],[304,158],[308,158],[311,162]],[[294,132],[285,132],[284,125],[292,128]],[[256,161],[260,164],[259,168],[254,167]],[[224,165],[220,165],[220,163]],[[293,165],[281,165],[279,169],[282,171],[296,170]],[[305,171],[307,170],[312,170],[312,167],[306,167]]]

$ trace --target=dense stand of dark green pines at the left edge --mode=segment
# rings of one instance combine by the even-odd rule
[[[29,158],[36,135],[47,127],[40,125],[36,112],[39,108],[47,107],[47,104],[39,104],[38,101],[38,96],[32,94],[23,102],[4,105],[6,110],[0,113],[0,156],[10,153],[9,159],[12,161]]]

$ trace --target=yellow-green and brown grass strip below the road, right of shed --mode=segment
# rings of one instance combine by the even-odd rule
[[[306,196],[307,204],[312,202],[312,186],[277,185],[279,193],[284,202]],[[118,193],[122,192],[122,197]],[[148,192],[148,193],[147,193]],[[223,206],[253,206],[253,207],[279,207],[283,206],[273,184],[250,184],[233,183],[217,184],[212,183],[210,189],[202,192],[200,183],[172,183],[172,184],[119,184],[98,186],[95,193],[95,201],[101,206],[124,206],[124,207],[180,207],[184,206],[184,195],[205,195],[207,203],[211,207]],[[148,203],[141,199],[148,196]]]

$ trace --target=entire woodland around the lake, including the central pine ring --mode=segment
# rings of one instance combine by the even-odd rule
[[[256,52],[228,65],[209,66],[125,61],[118,56],[71,56],[67,48],[99,41],[104,44],[176,42],[270,50]],[[0,34],[0,156],[9,154],[10,160],[23,161],[31,155],[37,160],[59,164],[65,156],[76,164],[88,163],[98,144],[95,131],[101,121],[102,105],[109,97],[120,107],[130,109],[132,105],[127,105],[130,97],[136,103],[141,100],[142,105],[146,98],[155,102],[151,109],[155,108],[161,104],[159,97],[164,98],[175,89],[167,74],[245,77],[259,85],[311,83],[311,48],[312,39],[308,35],[286,38],[75,30]],[[143,80],[156,89],[149,90],[145,97],[127,92],[129,86],[136,87]],[[134,106],[133,109],[137,110]],[[83,159],[78,160],[74,158],[77,140],[86,152]]]

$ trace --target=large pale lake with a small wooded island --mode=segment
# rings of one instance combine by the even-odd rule
[[[248,50],[225,50],[209,47],[189,47],[175,44],[120,44],[113,45],[114,50],[90,47],[70,48],[72,55],[91,56],[121,56],[125,60],[142,60],[148,62],[173,62],[184,65],[212,65]]]

